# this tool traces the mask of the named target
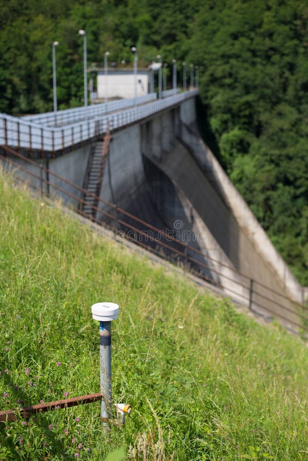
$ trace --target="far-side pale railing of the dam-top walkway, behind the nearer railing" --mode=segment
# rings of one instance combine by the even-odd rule
[[[145,96],[138,96],[137,103],[145,104],[157,99],[156,93],[149,93]],[[66,125],[75,123],[80,120],[100,117],[110,112],[120,111],[135,106],[135,99],[118,99],[116,101],[103,102],[101,104],[93,104],[88,107],[77,107],[74,109],[66,109],[54,112],[46,112],[44,114],[24,115],[22,120],[45,125],[46,127],[54,127],[55,125]]]

